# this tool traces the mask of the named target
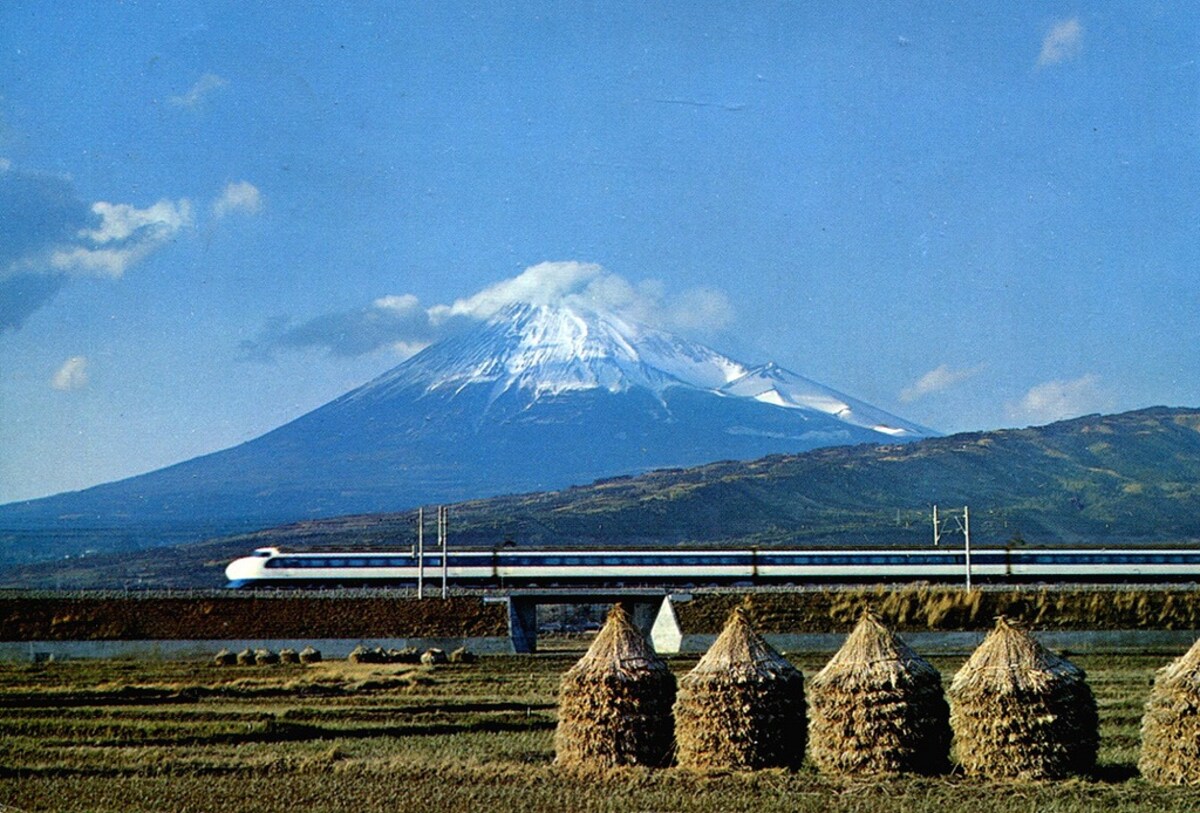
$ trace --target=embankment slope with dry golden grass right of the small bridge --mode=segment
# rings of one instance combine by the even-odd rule
[[[1001,615],[1034,630],[1200,630],[1200,590],[1186,588],[697,592],[674,609],[684,632],[715,633],[739,606],[766,634],[850,632],[866,609],[908,632],[984,631]]]

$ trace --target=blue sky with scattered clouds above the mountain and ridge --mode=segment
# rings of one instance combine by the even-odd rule
[[[1200,405],[1194,4],[736,5],[0,5],[0,501],[571,263],[943,432]]]

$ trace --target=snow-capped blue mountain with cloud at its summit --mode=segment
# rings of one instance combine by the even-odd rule
[[[34,537],[46,554],[66,540],[145,547],[932,434],[775,365],[613,315],[514,305],[254,440],[0,506],[0,560],[26,559],[14,548]]]

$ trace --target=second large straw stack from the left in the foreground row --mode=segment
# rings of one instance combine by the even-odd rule
[[[682,767],[799,767],[804,759],[804,678],[740,608],[679,681],[674,716]]]

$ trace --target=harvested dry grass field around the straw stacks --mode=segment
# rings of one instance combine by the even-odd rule
[[[1169,654],[1079,657],[1100,711],[1096,776],[1042,784],[839,783],[553,763],[556,692],[578,652],[445,667],[0,664],[0,811],[1190,811],[1138,776],[1139,722]],[[792,657],[811,676],[824,655]],[[964,658],[935,658],[943,680]],[[683,675],[695,656],[671,660]]]

